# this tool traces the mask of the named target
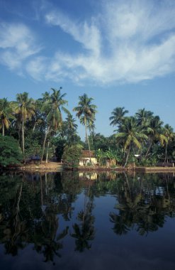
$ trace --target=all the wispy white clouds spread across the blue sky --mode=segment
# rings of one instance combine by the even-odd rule
[[[2,23],[1,63],[11,70],[23,67],[35,80],[72,80],[96,85],[140,82],[174,72],[173,0],[159,3],[156,0],[101,0],[96,16],[85,14],[84,21],[75,20],[65,12],[48,5],[38,19],[44,18],[47,25],[67,33],[72,43],[81,48],[79,52],[67,53],[66,49],[57,48],[43,55],[28,27]]]

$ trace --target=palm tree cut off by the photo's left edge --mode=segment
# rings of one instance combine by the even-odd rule
[[[11,124],[9,119],[14,119],[11,103],[6,98],[0,99],[0,129],[2,129],[2,136],[4,136],[5,128],[9,129]]]

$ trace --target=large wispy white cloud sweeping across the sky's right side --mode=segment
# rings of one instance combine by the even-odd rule
[[[175,69],[174,1],[104,1],[96,18],[72,21],[61,11],[46,14],[84,52],[56,54],[47,78],[81,82],[139,82]],[[57,68],[55,68],[57,66]]]

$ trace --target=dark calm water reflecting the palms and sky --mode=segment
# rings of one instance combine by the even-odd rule
[[[175,269],[175,177],[0,175],[0,269]]]

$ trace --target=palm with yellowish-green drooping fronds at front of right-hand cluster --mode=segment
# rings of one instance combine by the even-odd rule
[[[141,141],[147,139],[147,135],[142,133],[137,126],[135,117],[125,117],[123,124],[119,126],[119,133],[115,134],[118,143],[123,143],[124,151],[127,150],[127,156],[125,159],[125,165],[128,163],[128,157],[130,154],[130,148],[135,145],[137,148],[141,148]]]

